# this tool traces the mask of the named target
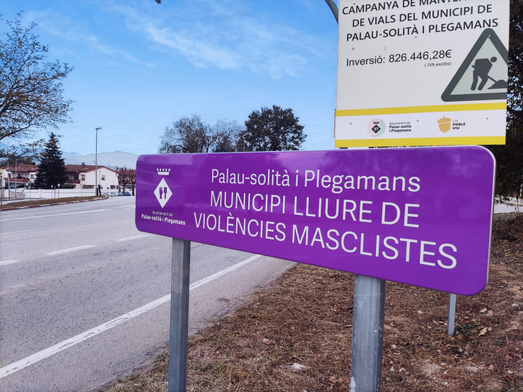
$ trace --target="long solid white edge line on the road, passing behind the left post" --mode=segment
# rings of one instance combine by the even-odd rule
[[[214,273],[213,275],[208,276],[207,278],[193,283],[189,286],[189,290],[194,290],[196,287],[203,286],[206,283],[211,282],[212,280],[220,278],[226,273],[230,273],[231,271],[234,271],[237,268],[245,266],[245,264],[251,263],[252,261],[259,259],[260,257],[262,257],[262,255],[256,254],[254,256],[249,257],[249,259],[240,261],[240,263],[236,263],[234,266],[230,266],[222,271],[218,271],[217,273]],[[95,328],[91,328],[89,331],[80,333],[76,336],[73,336],[72,338],[64,340],[63,342],[57,343],[56,345],[52,345],[51,347],[46,348],[45,350],[36,352],[35,354],[30,355],[29,357],[23,358],[23,360],[19,360],[13,362],[12,364],[8,364],[6,367],[2,367],[0,369],[0,379],[3,379],[5,376],[8,376],[9,374],[13,374],[14,372],[18,372],[18,370],[21,370],[24,367],[28,367],[32,364],[35,364],[36,362],[44,360],[45,358],[50,357],[51,355],[57,354],[57,352],[60,352],[62,350],[65,350],[66,348],[70,348],[78,343],[81,343],[83,342],[83,340],[92,338],[93,336],[98,335],[99,333],[107,331],[108,329],[114,326],[124,323],[124,321],[134,319],[134,317],[139,316],[140,314],[143,314],[146,311],[154,309],[155,307],[158,307],[159,305],[164,304],[165,302],[169,302],[170,299],[170,294],[164,295],[163,297],[155,299],[153,302],[149,302],[148,304],[143,305],[143,307],[131,310],[129,311],[129,313],[122,314],[122,316],[119,316],[116,319],[112,319],[110,321],[107,321],[107,323],[103,323],[99,326],[96,326]]]

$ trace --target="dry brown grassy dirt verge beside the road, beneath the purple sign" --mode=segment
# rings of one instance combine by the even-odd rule
[[[298,265],[189,338],[188,391],[349,391],[354,275]],[[457,297],[387,282],[382,391],[523,391],[523,215],[496,215],[490,280]],[[168,354],[103,388],[167,391]]]

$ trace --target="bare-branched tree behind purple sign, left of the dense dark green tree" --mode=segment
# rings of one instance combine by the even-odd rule
[[[165,127],[158,152],[223,153],[235,151],[237,137],[242,127],[237,121],[220,119],[214,126],[201,121],[198,114],[182,117]]]

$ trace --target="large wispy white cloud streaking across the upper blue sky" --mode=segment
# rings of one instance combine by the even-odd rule
[[[261,10],[247,10],[238,2],[203,0],[191,5],[190,10],[161,16],[127,4],[107,8],[122,14],[128,28],[145,35],[155,49],[182,56],[199,68],[251,69],[272,78],[300,76],[308,59],[321,57],[329,46],[305,32],[264,20]]]

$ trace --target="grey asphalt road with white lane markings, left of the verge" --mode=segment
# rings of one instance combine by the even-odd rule
[[[133,197],[1,212],[0,391],[90,391],[155,357],[168,343],[170,244],[136,230]],[[293,265],[191,252],[191,333]]]

